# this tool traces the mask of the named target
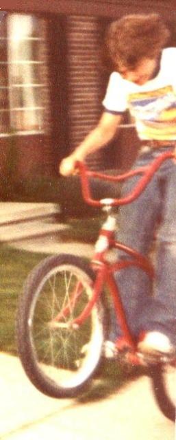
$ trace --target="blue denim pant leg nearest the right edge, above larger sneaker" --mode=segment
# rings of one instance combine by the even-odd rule
[[[172,160],[160,169],[164,179],[162,223],[158,232],[155,289],[148,318],[140,326],[165,333],[176,345],[176,165]]]

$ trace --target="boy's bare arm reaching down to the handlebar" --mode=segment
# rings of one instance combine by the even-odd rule
[[[77,160],[83,161],[87,155],[108,144],[116,134],[121,120],[121,114],[114,115],[105,111],[95,129],[90,131],[71,155],[62,160],[60,173],[64,176],[73,174]]]

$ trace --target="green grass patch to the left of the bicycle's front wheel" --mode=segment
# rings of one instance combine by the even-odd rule
[[[0,248],[0,350],[16,353],[15,320],[18,296],[29,271],[39,263],[43,254],[14,250],[5,245]]]

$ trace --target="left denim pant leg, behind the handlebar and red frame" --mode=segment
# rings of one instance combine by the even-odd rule
[[[153,160],[152,154],[145,154],[137,159],[133,168],[146,166]],[[123,195],[131,192],[138,177],[127,181],[123,188]],[[121,207],[119,219],[118,241],[134,248],[143,255],[147,255],[153,241],[155,225],[161,210],[161,194],[157,176],[153,177],[147,188],[136,201]],[[124,252],[117,252],[118,259],[129,259]],[[115,274],[121,299],[125,308],[127,322],[131,333],[137,337],[140,332],[141,311],[151,308],[152,283],[149,276],[137,267],[129,267]],[[115,320],[114,320],[115,321]],[[114,325],[110,338],[115,340],[121,336],[121,329]]]

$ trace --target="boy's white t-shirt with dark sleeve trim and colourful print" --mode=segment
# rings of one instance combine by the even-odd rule
[[[141,140],[176,140],[176,47],[162,51],[158,74],[144,85],[113,72],[103,106],[115,114],[129,109]]]

